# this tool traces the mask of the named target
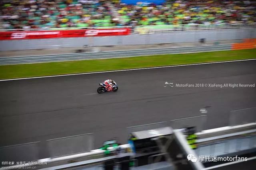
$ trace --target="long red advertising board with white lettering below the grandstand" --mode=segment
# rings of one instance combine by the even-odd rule
[[[73,29],[53,31],[2,31],[0,40],[14,39],[44,39],[44,38],[67,38],[67,37],[89,37],[89,36],[117,36],[129,35],[130,28],[112,29]]]

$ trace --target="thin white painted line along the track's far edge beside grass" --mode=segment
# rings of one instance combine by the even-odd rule
[[[76,73],[76,74],[61,74],[54,76],[39,76],[39,77],[26,77],[26,78],[13,78],[13,79],[5,79],[0,81],[10,81],[10,80],[26,80],[33,78],[48,78],[48,77],[60,77],[60,76],[75,76],[82,74],[97,74],[97,73],[106,73],[106,72],[120,72],[120,71],[132,71],[132,70],[146,70],[146,69],[154,69],[154,68],[168,68],[168,67],[178,67],[178,66],[194,66],[194,65],[203,65],[203,64],[216,64],[216,63],[231,63],[238,61],[251,61],[256,59],[244,59],[244,60],[232,60],[232,61],[218,61],[218,62],[210,62],[210,63],[196,63],[196,64],[182,64],[182,65],[174,65],[174,66],[158,66],[158,67],[147,67],[147,68],[132,68],[132,69],[124,69],[124,70],[110,70],[110,71],[99,71],[99,72],[85,72],[85,73]]]

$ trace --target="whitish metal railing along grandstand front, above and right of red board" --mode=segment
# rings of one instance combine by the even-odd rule
[[[240,29],[256,28],[256,23],[208,23],[208,24],[181,24],[181,25],[139,25],[115,27],[66,27],[66,28],[40,28],[40,29],[0,29],[0,31],[46,31],[46,30],[73,30],[73,29],[108,29],[131,28],[131,33],[147,34],[169,31],[196,31],[208,29]]]

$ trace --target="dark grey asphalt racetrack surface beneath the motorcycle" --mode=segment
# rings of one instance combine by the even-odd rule
[[[118,92],[98,94],[112,78]],[[164,87],[164,83],[174,87]],[[202,115],[207,128],[228,125],[232,110],[256,107],[256,88],[175,87],[175,84],[254,84],[256,61],[0,82],[0,146],[94,133],[94,147],[116,138],[127,143],[126,127]],[[42,150],[41,157],[47,157]]]

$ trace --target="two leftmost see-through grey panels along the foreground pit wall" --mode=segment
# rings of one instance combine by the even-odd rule
[[[0,162],[20,162],[39,160],[42,157],[42,150],[48,152],[49,157],[55,158],[58,156],[66,156],[88,152],[94,149],[94,134],[87,133],[57,139],[49,139],[46,141],[23,143],[18,145],[10,145],[0,147]],[[10,165],[8,163],[8,165]]]

